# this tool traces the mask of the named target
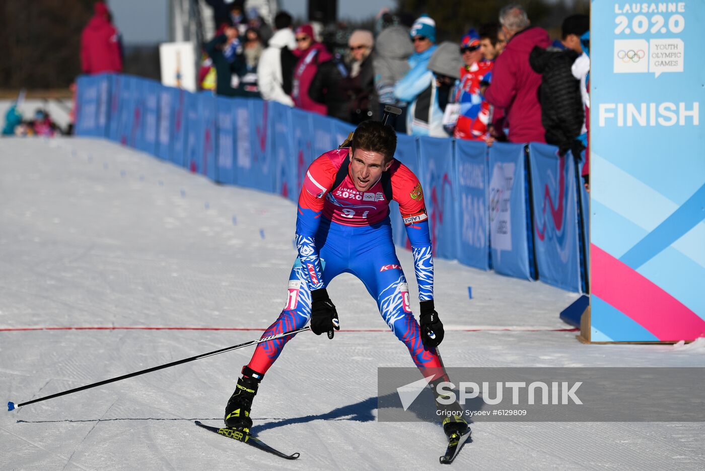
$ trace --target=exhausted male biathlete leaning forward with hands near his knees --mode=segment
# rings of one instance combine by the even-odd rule
[[[296,259],[288,297],[278,319],[262,336],[300,329],[311,322],[316,335],[333,338],[338,312],[326,286],[341,273],[359,278],[376,300],[379,312],[405,343],[424,377],[443,371],[436,347],[443,324],[434,309],[434,264],[424,193],[419,179],[393,156],[396,134],[380,121],[364,121],[348,142],[326,152],[309,166],[299,196]],[[404,272],[394,250],[389,202],[395,200],[412,246],[421,315],[414,318]],[[225,411],[227,427],[249,432],[250,410],[259,382],[292,336],[257,345],[243,367]],[[431,381],[434,384],[435,381]],[[448,436],[464,432],[458,415],[443,420]]]

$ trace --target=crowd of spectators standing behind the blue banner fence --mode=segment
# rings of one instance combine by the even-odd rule
[[[457,42],[437,42],[436,22],[408,27],[383,10],[374,31],[334,41],[316,24],[295,26],[286,11],[267,25],[243,1],[214,6],[216,34],[204,46],[200,87],[262,97],[357,124],[402,109],[400,133],[484,141],[548,142],[563,152],[587,145],[589,18],[565,18],[561,38],[531,25],[522,6],[498,12]],[[339,47],[341,36],[347,49]],[[337,41],[337,42],[336,42]]]

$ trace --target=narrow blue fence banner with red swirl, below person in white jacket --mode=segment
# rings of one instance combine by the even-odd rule
[[[274,191],[274,164],[271,159],[271,104],[261,99],[248,99],[250,103],[250,152],[252,166],[257,169],[247,183],[257,190]]]

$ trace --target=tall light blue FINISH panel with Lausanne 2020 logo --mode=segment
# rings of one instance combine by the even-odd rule
[[[705,334],[705,2],[594,1],[591,16],[591,340],[694,340]]]

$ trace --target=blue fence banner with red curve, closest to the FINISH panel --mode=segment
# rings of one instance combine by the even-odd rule
[[[559,157],[556,146],[532,142],[529,164],[539,280],[580,291],[575,160],[570,152]]]

